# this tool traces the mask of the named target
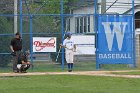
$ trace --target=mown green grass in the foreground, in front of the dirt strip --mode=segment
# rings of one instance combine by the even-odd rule
[[[82,75],[0,77],[0,93],[139,93],[140,79]]]

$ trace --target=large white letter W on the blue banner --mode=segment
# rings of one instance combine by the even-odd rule
[[[114,33],[116,33],[118,49],[121,51],[127,22],[103,22],[102,25],[105,29],[109,51],[112,50]],[[111,25],[113,25],[113,29],[111,29]]]

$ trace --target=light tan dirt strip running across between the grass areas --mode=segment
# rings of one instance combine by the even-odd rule
[[[123,71],[74,71],[74,72],[29,72],[29,73],[0,73],[0,76],[28,76],[28,75],[89,75],[89,76],[110,76],[123,78],[140,78],[140,75],[119,75],[113,72],[136,72],[140,70]]]

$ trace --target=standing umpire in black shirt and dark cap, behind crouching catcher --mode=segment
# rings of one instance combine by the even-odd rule
[[[22,50],[22,40],[18,32],[16,33],[16,37],[11,40],[10,48],[13,52],[13,71],[18,72],[17,62]]]

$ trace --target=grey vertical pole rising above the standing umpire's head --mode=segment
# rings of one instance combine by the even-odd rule
[[[17,4],[18,1],[14,0],[14,34],[17,32]]]

